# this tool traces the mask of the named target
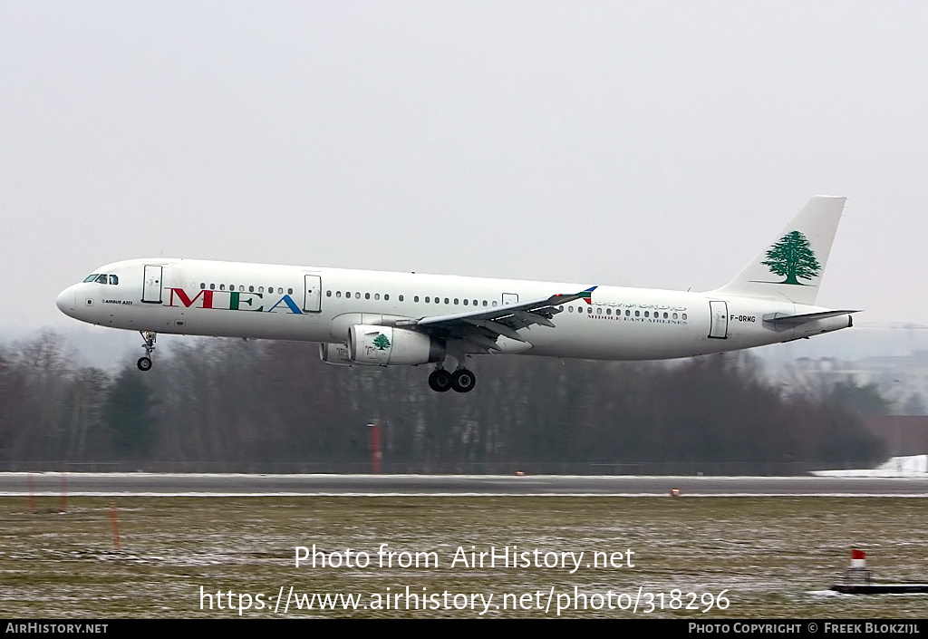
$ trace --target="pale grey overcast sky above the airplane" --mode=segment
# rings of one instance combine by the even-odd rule
[[[0,331],[153,255],[708,290],[815,194],[928,324],[928,3],[0,0]]]

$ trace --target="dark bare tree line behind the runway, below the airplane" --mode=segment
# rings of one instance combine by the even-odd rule
[[[429,390],[431,367],[330,366],[312,344],[178,338],[157,355],[150,372],[134,361],[108,372],[79,365],[53,332],[0,348],[0,463],[349,470],[370,461],[374,423],[384,468],[417,472],[866,463],[886,451],[859,418],[875,387],[786,392],[746,352],[640,363],[486,356],[470,364],[479,384],[467,395]]]

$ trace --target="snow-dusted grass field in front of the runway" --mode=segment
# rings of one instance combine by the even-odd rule
[[[0,498],[0,617],[229,618],[248,604],[242,617],[284,617],[285,607],[288,617],[556,617],[560,606],[561,617],[693,619],[928,609],[928,595],[828,590],[851,547],[868,553],[875,580],[928,581],[922,499],[126,497],[115,506],[119,551],[109,499],[72,498],[60,513],[58,499],[39,498],[32,512],[26,498]],[[353,567],[296,567],[296,548],[314,544],[342,562],[352,549]],[[519,552],[531,565],[471,566],[471,546],[509,546],[510,564]],[[367,567],[354,566],[365,560],[356,553]],[[336,599],[323,610],[317,598],[308,609],[301,597],[312,593],[354,593],[357,608]]]

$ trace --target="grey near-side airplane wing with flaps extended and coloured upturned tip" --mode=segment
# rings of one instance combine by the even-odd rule
[[[528,328],[534,324],[554,328],[554,322],[551,320],[561,313],[559,306],[578,299],[586,299],[588,303],[590,294],[596,288],[596,286],[591,286],[579,293],[559,293],[528,302],[492,308],[475,308],[464,313],[436,315],[403,323],[436,337],[463,339],[478,346],[484,352],[501,352],[502,349],[496,344],[500,336],[517,342],[527,342],[518,333],[519,329]],[[400,322],[397,322],[397,325],[399,324]]]

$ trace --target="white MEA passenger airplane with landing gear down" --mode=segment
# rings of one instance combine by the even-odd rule
[[[194,259],[130,259],[58,295],[66,315],[138,331],[319,343],[329,364],[432,364],[436,392],[467,393],[474,355],[676,359],[853,325],[815,306],[844,209],[816,196],[725,286],[705,293]]]

